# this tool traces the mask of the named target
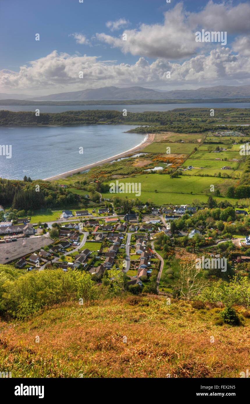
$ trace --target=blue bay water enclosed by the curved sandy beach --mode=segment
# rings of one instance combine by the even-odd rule
[[[145,135],[124,133],[135,127],[0,126],[0,144],[12,145],[11,158],[0,156],[0,177],[44,179],[115,156],[144,141]]]

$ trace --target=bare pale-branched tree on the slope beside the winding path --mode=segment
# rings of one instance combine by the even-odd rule
[[[180,294],[186,299],[192,299],[199,295],[201,290],[208,285],[208,281],[202,278],[202,269],[196,268],[195,256],[191,259],[185,258],[179,267]]]

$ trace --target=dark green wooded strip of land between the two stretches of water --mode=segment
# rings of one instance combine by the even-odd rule
[[[129,112],[123,116],[121,111],[106,110],[86,110],[86,111],[66,111],[57,114],[41,113],[36,116],[35,112],[12,112],[0,111],[0,125],[73,125],[73,124],[123,124],[136,122],[142,124],[159,125],[153,128],[154,132],[161,130],[178,130],[180,132],[204,132],[206,130],[217,130],[213,117],[210,117],[208,108],[179,108],[166,112]],[[242,122],[248,119],[250,109],[238,108],[218,108],[216,114],[220,120],[227,122]],[[180,126],[180,124],[182,124]],[[242,126],[226,126],[225,129],[242,130]],[[136,131],[146,133],[147,128],[137,128]],[[248,132],[249,128],[244,127]]]

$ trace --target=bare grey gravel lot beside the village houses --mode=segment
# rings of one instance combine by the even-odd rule
[[[53,240],[45,236],[20,238],[17,241],[2,243],[0,244],[0,263],[7,264],[51,243]]]

